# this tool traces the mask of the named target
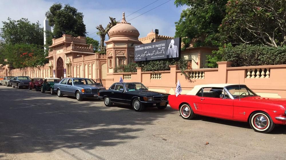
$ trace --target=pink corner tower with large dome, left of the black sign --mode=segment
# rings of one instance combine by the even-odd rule
[[[142,44],[138,40],[139,31],[125,20],[123,12],[121,23],[113,26],[109,32],[109,40],[106,43],[106,58],[108,73],[119,65],[134,62],[134,45]]]

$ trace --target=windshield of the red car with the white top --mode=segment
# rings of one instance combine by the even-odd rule
[[[233,98],[235,99],[243,98],[243,97],[258,96],[246,86],[235,85],[235,86],[226,87],[226,89],[229,91],[229,93],[231,93],[231,95],[233,95]]]

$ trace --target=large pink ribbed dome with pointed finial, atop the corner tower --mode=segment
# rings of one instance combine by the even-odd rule
[[[123,12],[121,23],[117,23],[108,31],[109,37],[115,36],[133,36],[138,38],[139,31],[125,20],[125,13]]]

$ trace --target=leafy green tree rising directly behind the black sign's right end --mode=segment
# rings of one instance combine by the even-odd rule
[[[195,46],[218,45],[217,33],[226,14],[226,4],[227,0],[176,0],[177,7],[187,5],[188,8],[182,11],[179,21],[175,22],[175,37],[182,37],[184,44],[197,39]]]

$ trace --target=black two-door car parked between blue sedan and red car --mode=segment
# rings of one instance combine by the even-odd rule
[[[104,100],[106,106],[114,104],[132,105],[137,112],[144,107],[158,107],[165,109],[168,104],[167,93],[149,91],[142,83],[114,83],[108,90],[98,93],[98,98]]]

